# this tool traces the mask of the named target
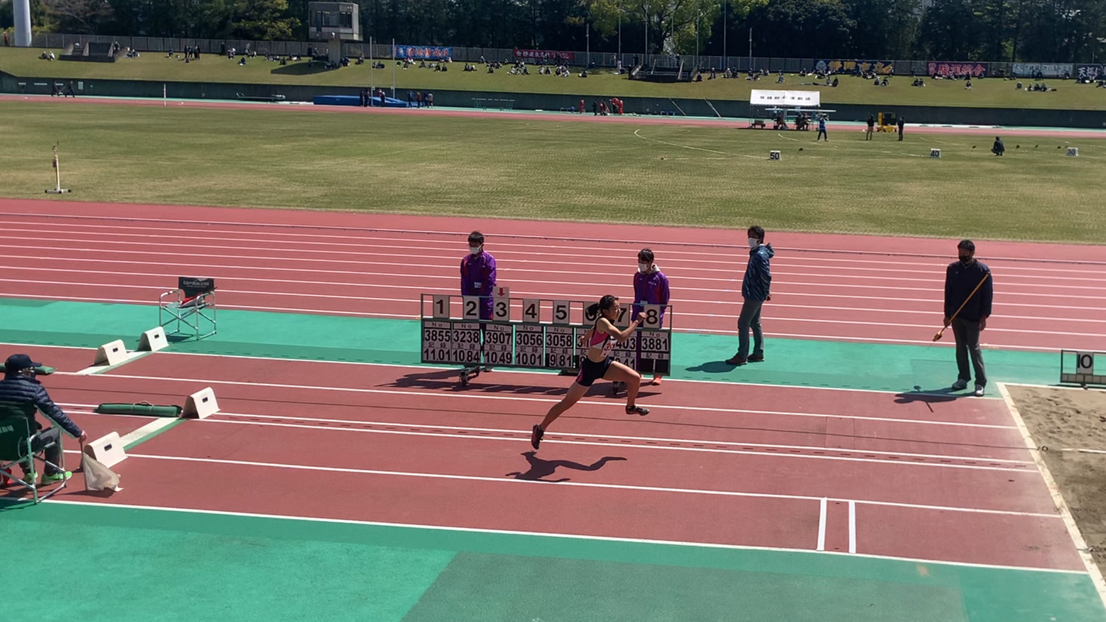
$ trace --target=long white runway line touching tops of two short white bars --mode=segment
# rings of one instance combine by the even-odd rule
[[[732,498],[743,498],[743,499],[776,499],[776,500],[808,500],[816,501],[822,497],[813,497],[810,495],[782,495],[773,493],[743,493],[739,490],[712,490],[706,488],[675,488],[667,486],[638,486],[630,484],[601,484],[596,481],[549,481],[540,479],[517,479],[513,477],[488,477],[483,475],[456,475],[456,474],[445,474],[445,473],[416,473],[416,471],[404,471],[404,470],[383,470],[383,469],[371,469],[371,468],[348,468],[348,467],[328,467],[319,465],[296,465],[290,463],[265,463],[257,460],[230,460],[223,458],[199,458],[190,456],[159,456],[152,454],[128,454],[131,458],[146,458],[152,460],[169,460],[169,462],[185,462],[185,463],[204,463],[204,464],[216,464],[216,465],[232,465],[232,466],[250,466],[250,467],[265,467],[265,468],[279,468],[286,470],[311,470],[319,473],[344,473],[353,475],[380,475],[386,477],[411,477],[411,478],[426,478],[426,479],[448,479],[448,480],[460,480],[460,481],[482,481],[492,484],[538,484],[538,485],[553,485],[553,486],[567,486],[572,488],[598,488],[604,490],[632,490],[640,493],[671,493],[679,495],[706,495],[716,497],[732,497]],[[847,502],[849,499],[842,499],[835,497],[827,497],[831,501]],[[963,508],[953,506],[932,506],[924,504],[900,504],[896,501],[870,501],[857,499],[858,504],[870,504],[879,506],[899,507],[899,508],[911,508],[911,509],[924,509],[924,510],[935,510],[935,511],[958,511],[968,514],[987,514],[995,516],[1019,516],[1019,517],[1030,517],[1030,518],[1060,518],[1054,514],[1042,514],[1042,512],[1027,512],[1020,510],[998,510],[998,509],[983,509],[983,508]]]

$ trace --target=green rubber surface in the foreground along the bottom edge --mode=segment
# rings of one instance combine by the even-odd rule
[[[64,569],[80,589],[66,598],[9,599],[7,619],[1106,620],[1084,573],[107,505],[0,505],[0,541],[60,535],[70,546],[38,547],[35,564]]]

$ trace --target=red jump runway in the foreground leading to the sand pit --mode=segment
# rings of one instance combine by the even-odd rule
[[[407,372],[159,353],[50,384],[67,403],[215,387],[222,413],[121,465],[127,504],[813,550],[827,497],[830,550],[1082,569],[998,401],[954,421],[952,406],[927,416],[889,394],[784,388],[769,401],[759,387],[670,381],[629,422],[618,401],[585,398],[533,457],[523,431],[565,379],[495,372],[503,384],[458,393]],[[745,403],[780,411],[701,406]],[[929,439],[912,440],[922,427]]]

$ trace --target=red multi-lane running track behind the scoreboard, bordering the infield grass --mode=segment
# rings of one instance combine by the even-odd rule
[[[731,257],[743,250],[727,231],[595,225],[585,230],[594,239],[581,240],[572,238],[580,227],[564,224],[325,214],[328,224],[320,226],[319,215],[310,225],[295,211],[217,208],[195,208],[196,220],[180,222],[150,221],[179,214],[154,206],[43,205],[0,200],[7,253],[33,249],[41,257],[8,270],[0,296],[152,304],[179,273],[204,273],[220,279],[220,303],[231,309],[413,318],[420,293],[457,289],[463,236],[456,231],[480,228],[513,297],[630,296],[630,273],[612,273],[633,267],[636,250],[651,245],[671,279],[677,330],[735,332],[743,262]],[[770,335],[930,343],[951,241],[802,234],[772,240],[779,251]],[[987,345],[1106,349],[1106,249],[980,246],[998,283]],[[282,274],[279,291],[273,270]]]

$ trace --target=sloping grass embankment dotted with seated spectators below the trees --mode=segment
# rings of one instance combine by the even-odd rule
[[[56,51],[55,51],[56,52]],[[198,62],[167,59],[165,53],[148,52],[138,59],[121,59],[115,63],[85,63],[73,61],[44,61],[39,59],[42,50],[0,48],[0,71],[29,77],[59,77],[74,80],[153,80],[170,82],[229,82],[243,84],[313,84],[327,86],[392,86],[394,62],[384,61],[384,70],[369,70],[369,64],[349,65],[325,71],[309,68],[305,61],[281,66],[262,58],[250,59],[244,66],[238,61],[216,55],[204,55]],[[753,87],[774,90],[818,90],[822,103],[868,104],[874,110],[880,106],[968,106],[1004,108],[1068,108],[1106,110],[1106,90],[1072,81],[1048,80],[1056,92],[1027,93],[1015,91],[1014,83],[1005,80],[977,80],[971,91],[960,81],[927,80],[925,87],[910,86],[909,76],[897,76],[886,87],[873,86],[870,82],[851,76],[842,76],[836,89],[811,86],[811,77],[791,74],[783,85],[775,83],[775,76],[755,83],[740,80],[703,80],[698,83],[656,84],[627,80],[625,75],[598,72],[587,79],[577,76],[555,77],[553,75],[510,75],[505,70],[488,74],[484,71],[466,73],[465,63],[452,63],[448,72],[429,69],[395,70],[397,89],[490,91],[505,93],[557,93],[580,96],[620,97],[684,97],[695,100],[749,100]],[[319,64],[315,64],[319,68]]]

